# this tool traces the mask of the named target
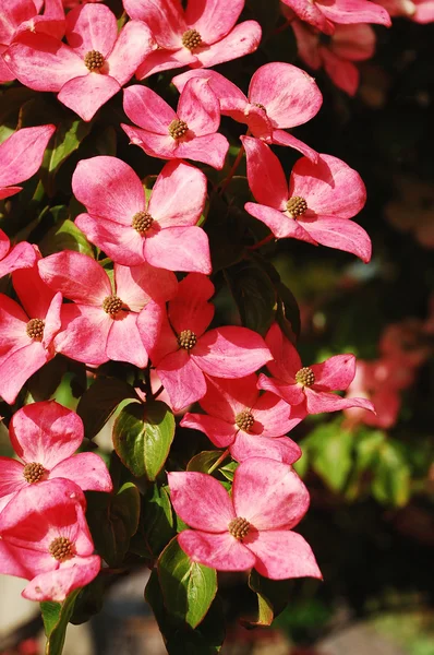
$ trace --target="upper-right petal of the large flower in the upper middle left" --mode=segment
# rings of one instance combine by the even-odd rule
[[[154,184],[148,212],[161,227],[196,225],[206,200],[206,177],[185,162],[168,162]]]

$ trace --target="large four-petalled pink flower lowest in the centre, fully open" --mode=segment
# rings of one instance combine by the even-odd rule
[[[193,529],[178,535],[186,555],[218,571],[254,568],[272,580],[322,577],[311,547],[292,532],[309,492],[287,464],[250,457],[237,468],[232,496],[204,473],[169,473],[174,511]]]

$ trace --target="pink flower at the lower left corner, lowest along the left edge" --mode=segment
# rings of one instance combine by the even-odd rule
[[[100,569],[84,511],[83,491],[53,479],[22,489],[0,514],[0,573],[31,582],[29,600],[61,603]]]

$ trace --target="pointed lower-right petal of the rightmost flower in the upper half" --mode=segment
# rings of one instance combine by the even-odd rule
[[[371,260],[371,239],[363,227],[353,221],[322,216],[311,222],[308,216],[305,219],[301,216],[300,225],[322,246],[351,252],[365,264]]]

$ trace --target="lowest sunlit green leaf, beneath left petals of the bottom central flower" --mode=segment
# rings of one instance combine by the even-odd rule
[[[190,560],[174,537],[158,560],[158,580],[170,616],[196,628],[217,593],[217,573]]]

